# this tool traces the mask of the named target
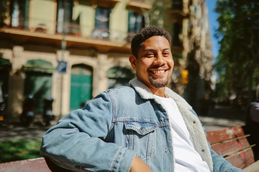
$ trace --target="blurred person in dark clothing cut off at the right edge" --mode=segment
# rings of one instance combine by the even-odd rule
[[[256,100],[248,107],[245,123],[249,133],[251,133],[252,142],[259,145],[259,84],[256,88]],[[255,161],[257,161],[259,159],[259,146],[254,146],[253,150]]]

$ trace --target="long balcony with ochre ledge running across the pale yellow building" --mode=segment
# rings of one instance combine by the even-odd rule
[[[11,39],[19,43],[37,43],[52,46],[61,46],[62,23],[39,19],[21,19],[12,21],[12,26],[0,28],[2,40]],[[79,24],[66,25],[67,48],[95,48],[99,51],[131,52],[127,32],[104,28],[94,28]]]

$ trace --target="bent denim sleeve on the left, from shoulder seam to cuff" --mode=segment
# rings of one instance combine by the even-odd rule
[[[71,171],[128,172],[136,152],[104,142],[113,128],[112,119],[111,98],[100,93],[50,128],[43,136],[40,153]]]

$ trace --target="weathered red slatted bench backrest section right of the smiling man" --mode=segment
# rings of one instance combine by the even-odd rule
[[[211,143],[212,149],[241,169],[254,163],[252,147],[255,144],[249,144],[250,135],[245,134],[244,130],[244,127],[240,126],[207,132],[207,140]]]

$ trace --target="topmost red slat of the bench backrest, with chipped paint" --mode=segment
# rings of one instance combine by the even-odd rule
[[[210,142],[210,144],[214,144],[225,140],[233,139],[236,137],[241,137],[244,135],[245,134],[241,126],[231,127],[223,130],[207,132],[207,140]]]

